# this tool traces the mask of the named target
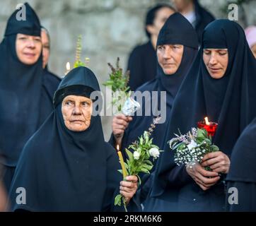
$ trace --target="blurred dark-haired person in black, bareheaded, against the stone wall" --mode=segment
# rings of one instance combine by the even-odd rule
[[[129,87],[136,90],[156,77],[156,41],[158,33],[175,9],[168,4],[158,4],[146,13],[145,31],[149,41],[136,46],[129,55],[127,70],[130,71]]]

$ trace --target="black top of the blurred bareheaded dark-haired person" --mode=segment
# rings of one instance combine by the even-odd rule
[[[156,78],[156,50],[151,41],[139,45],[129,56],[127,70],[130,71],[129,87],[136,90],[142,84]]]

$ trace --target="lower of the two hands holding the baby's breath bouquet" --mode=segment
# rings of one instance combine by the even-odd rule
[[[186,169],[190,177],[194,179],[194,182],[196,182],[204,191],[216,184],[220,179],[217,172],[207,171],[198,163],[192,165],[192,167],[187,166]]]

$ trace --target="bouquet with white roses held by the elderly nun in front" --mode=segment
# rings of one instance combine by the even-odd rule
[[[141,184],[139,173],[143,172],[150,174],[150,170],[153,168],[153,163],[150,160],[151,157],[153,157],[154,161],[163,151],[159,150],[157,145],[153,145],[153,138],[150,138],[153,129],[156,128],[156,124],[160,119],[160,117],[156,117],[156,119],[153,120],[153,124],[149,127],[149,130],[144,131],[143,135],[140,136],[137,141],[125,149],[128,155],[127,162],[124,162],[125,168],[127,169],[128,175],[135,175],[138,177],[139,184]],[[133,153],[129,149],[132,149]],[[122,173],[122,169],[118,171]],[[126,209],[124,197],[121,194],[118,194],[115,197],[115,206],[121,206],[122,199],[124,208]]]

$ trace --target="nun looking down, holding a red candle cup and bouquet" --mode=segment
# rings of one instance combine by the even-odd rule
[[[173,103],[164,152],[153,178],[151,196],[169,203],[163,211],[225,210],[222,178],[229,170],[235,142],[256,116],[256,62],[243,29],[230,20],[215,20],[205,28],[202,41]],[[204,59],[209,57],[210,61],[204,64]],[[224,69],[219,63],[223,58],[228,59],[226,69],[222,77],[214,78]],[[192,169],[176,165],[167,142],[178,129],[182,134],[187,133],[206,116],[219,124],[213,142],[221,151],[204,156],[202,165]],[[206,165],[213,172],[202,168]]]

